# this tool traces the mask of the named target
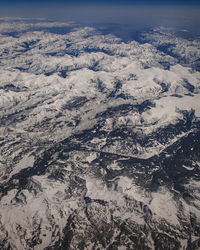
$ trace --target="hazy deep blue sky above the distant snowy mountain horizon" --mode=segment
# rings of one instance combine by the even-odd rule
[[[200,33],[200,0],[0,0],[5,16],[109,23],[121,32],[164,25]]]

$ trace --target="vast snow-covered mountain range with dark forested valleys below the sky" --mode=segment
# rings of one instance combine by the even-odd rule
[[[200,41],[0,32],[0,248],[199,249]]]

